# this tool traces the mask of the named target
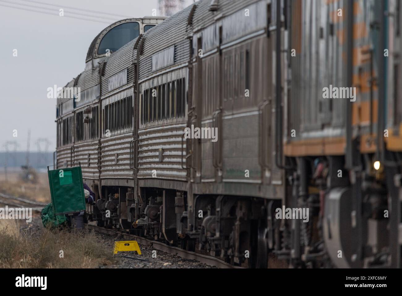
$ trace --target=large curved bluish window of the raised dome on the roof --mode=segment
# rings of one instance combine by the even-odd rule
[[[123,45],[139,36],[139,23],[129,22],[118,25],[103,36],[98,47],[98,54],[106,54],[107,50],[115,52]]]

